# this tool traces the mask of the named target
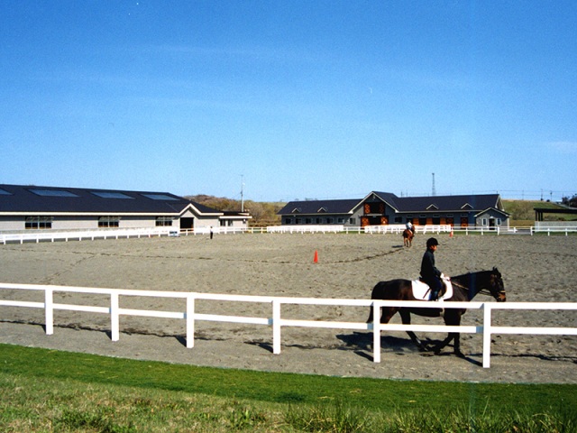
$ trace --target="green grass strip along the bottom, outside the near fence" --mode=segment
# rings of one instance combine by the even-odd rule
[[[571,384],[257,373],[0,345],[0,431],[577,431],[575,408]]]

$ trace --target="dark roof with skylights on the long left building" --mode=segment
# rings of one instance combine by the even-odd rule
[[[0,213],[179,214],[221,212],[169,192],[0,185]]]

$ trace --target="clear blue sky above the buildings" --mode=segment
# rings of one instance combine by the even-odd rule
[[[577,2],[0,0],[0,183],[577,193]]]

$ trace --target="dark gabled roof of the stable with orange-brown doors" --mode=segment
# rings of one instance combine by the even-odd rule
[[[459,196],[397,197],[390,192],[371,191],[365,198],[345,200],[291,201],[279,210],[279,215],[347,214],[371,197],[377,197],[398,212],[468,212],[499,206],[499,194],[469,194]]]

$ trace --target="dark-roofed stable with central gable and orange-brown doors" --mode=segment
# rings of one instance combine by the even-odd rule
[[[291,201],[279,210],[282,225],[336,224],[343,226],[447,225],[508,227],[499,194],[397,197],[371,191],[362,199]]]

